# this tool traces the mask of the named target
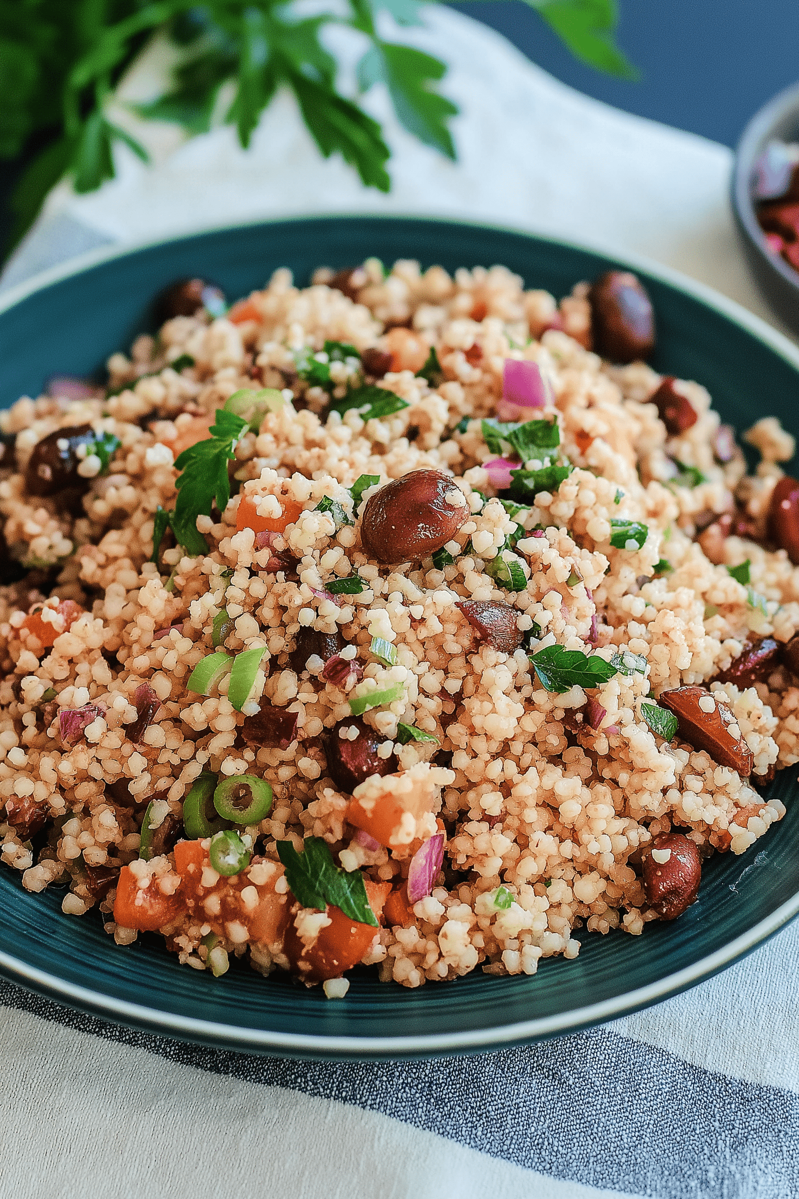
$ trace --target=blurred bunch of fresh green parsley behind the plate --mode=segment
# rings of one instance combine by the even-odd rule
[[[616,0],[527,0],[573,54],[622,78],[635,72],[615,44]],[[410,46],[387,41],[377,18],[420,25],[417,0],[349,0],[349,7],[305,16],[292,0],[5,0],[0,6],[0,158],[17,158],[35,139],[46,143],[23,171],[12,198],[13,241],[36,218],[50,188],[68,176],[90,192],[115,174],[114,149],[125,144],[143,161],[144,146],[109,120],[114,89],[156,37],[177,49],[161,96],[135,106],[149,120],[206,133],[225,100],[223,120],[248,146],[265,108],[287,90],[320,153],[340,153],[362,182],[387,192],[389,150],[380,123],[338,84],[327,50],[329,24],[362,38],[361,94],[383,85],[400,123],[420,141],[455,158],[449,122],[456,106],[438,86],[446,66]],[[380,22],[382,30],[382,20]],[[47,135],[49,134],[49,140]]]

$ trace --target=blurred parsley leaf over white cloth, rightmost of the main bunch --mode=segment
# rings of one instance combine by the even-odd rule
[[[368,91],[385,83],[401,125],[419,141],[434,146],[448,158],[455,158],[455,146],[447,121],[458,108],[434,91],[446,66],[430,54],[410,46],[375,40],[358,64],[358,86]]]

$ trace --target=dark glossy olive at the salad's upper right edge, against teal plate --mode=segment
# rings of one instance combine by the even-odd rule
[[[629,271],[607,271],[588,293],[594,349],[611,362],[647,359],[655,348],[652,301]]]

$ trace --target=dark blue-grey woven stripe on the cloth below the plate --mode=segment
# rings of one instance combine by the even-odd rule
[[[261,1058],[105,1024],[0,981],[0,1005],[182,1065],[338,1099],[492,1157],[652,1199],[795,1199],[799,1096],[609,1029],[477,1058]]]

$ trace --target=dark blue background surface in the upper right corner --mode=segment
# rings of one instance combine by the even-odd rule
[[[761,104],[799,79],[798,0],[617,2],[618,42],[641,71],[638,83],[577,62],[522,0],[453,7],[504,34],[563,83],[730,146]]]

